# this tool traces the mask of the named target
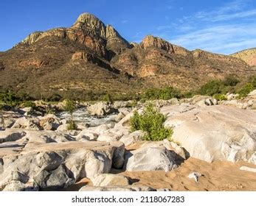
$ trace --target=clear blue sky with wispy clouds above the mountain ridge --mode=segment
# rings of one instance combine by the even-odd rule
[[[71,26],[85,12],[112,24],[128,41],[156,35],[221,54],[256,47],[255,0],[1,0],[0,51],[31,32]]]

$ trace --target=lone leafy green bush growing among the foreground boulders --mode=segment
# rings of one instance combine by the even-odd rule
[[[171,138],[173,129],[166,129],[164,122],[166,116],[156,110],[152,105],[148,105],[139,115],[137,111],[130,119],[131,132],[136,130],[145,131],[147,134],[143,137],[145,141],[162,141],[166,138]]]

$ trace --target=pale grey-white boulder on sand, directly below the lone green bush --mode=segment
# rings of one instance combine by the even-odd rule
[[[176,167],[175,155],[164,146],[142,146],[131,152],[126,164],[127,171],[167,172]]]

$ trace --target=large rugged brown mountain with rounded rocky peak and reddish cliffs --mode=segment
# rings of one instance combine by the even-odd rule
[[[0,88],[35,98],[137,93],[167,85],[190,90],[212,78],[253,72],[237,57],[188,51],[152,35],[128,43],[89,13],[69,28],[33,32],[0,53]]]

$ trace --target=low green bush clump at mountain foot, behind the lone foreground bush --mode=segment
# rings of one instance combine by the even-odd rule
[[[172,98],[180,98],[181,92],[180,90],[168,87],[168,88],[150,88],[145,91],[145,93],[142,95],[143,99],[172,99]]]

